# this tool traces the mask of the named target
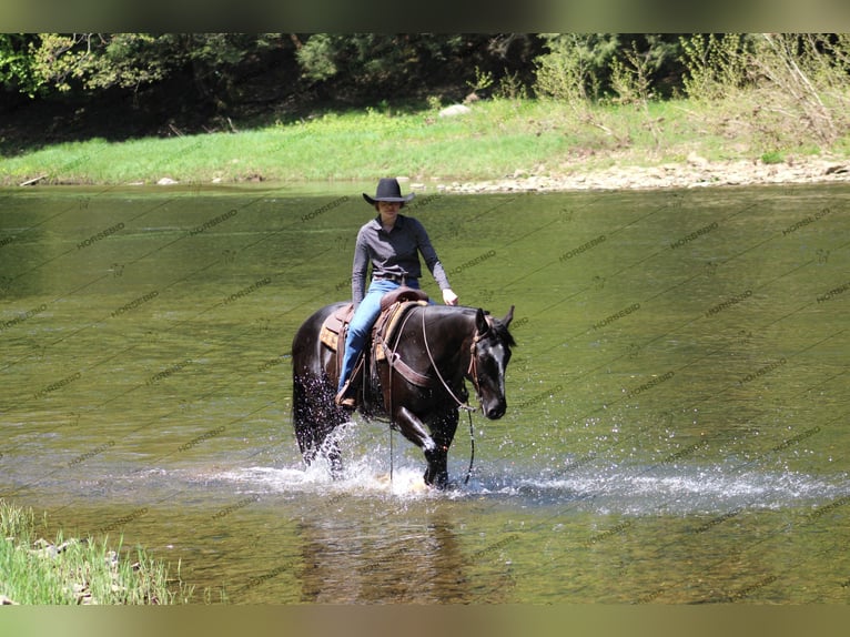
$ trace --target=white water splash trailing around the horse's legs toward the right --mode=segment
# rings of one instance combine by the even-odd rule
[[[308,468],[252,466],[226,471],[215,479],[235,483],[245,493],[318,494],[402,499],[486,498],[504,504],[560,507],[626,515],[712,514],[732,508],[780,509],[814,505],[850,493],[846,477],[816,477],[795,472],[730,473],[721,465],[678,467],[588,467],[575,475],[540,476],[502,467],[505,473],[474,474],[468,484],[439,492],[424,485],[422,467],[385,467],[363,458],[333,481],[321,463]],[[497,468],[497,467],[492,467]]]

